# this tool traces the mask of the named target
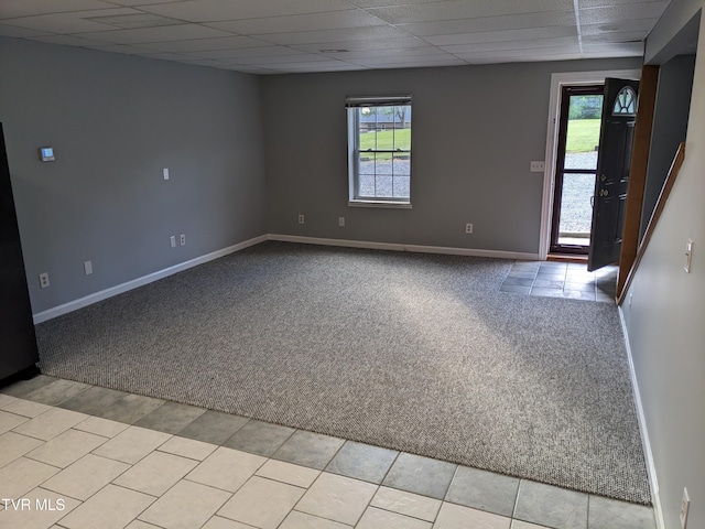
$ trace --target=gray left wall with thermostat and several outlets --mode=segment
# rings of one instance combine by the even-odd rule
[[[0,64],[34,313],[267,233],[257,77],[11,39]]]

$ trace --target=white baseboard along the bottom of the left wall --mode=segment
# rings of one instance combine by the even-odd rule
[[[253,239],[248,239],[242,242],[238,242],[237,245],[229,246],[228,248],[224,248],[221,250],[207,253],[205,256],[196,257],[195,259],[191,259],[188,261],[174,264],[173,267],[165,268],[164,270],[160,270],[158,272],[153,272],[138,279],[133,279],[132,281],[128,281],[127,283],[118,284],[116,287],[110,287],[109,289],[101,290],[100,292],[95,292],[93,294],[86,295],[85,298],[80,298],[78,300],[64,303],[63,305],[47,309],[46,311],[42,311],[34,314],[34,324],[46,322],[47,320],[52,320],[54,317],[61,316],[63,314],[67,314],[73,311],[77,311],[78,309],[83,309],[84,306],[88,306],[99,301],[107,300],[108,298],[112,298],[113,295],[121,294],[123,292],[127,292],[132,289],[137,289],[139,287],[143,287],[145,284],[166,278],[169,276],[181,272],[183,270],[187,270],[198,264],[203,264],[204,262],[213,261],[214,259],[218,259],[229,253],[234,253],[236,251],[248,248],[250,246],[258,245],[260,242],[265,241],[267,239],[268,239],[267,235],[261,235],[259,237],[254,237]]]

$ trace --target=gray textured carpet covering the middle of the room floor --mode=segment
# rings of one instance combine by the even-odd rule
[[[510,267],[264,242],[39,325],[41,368],[648,504],[616,307]]]

